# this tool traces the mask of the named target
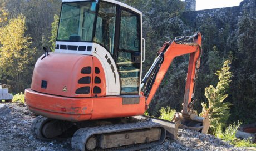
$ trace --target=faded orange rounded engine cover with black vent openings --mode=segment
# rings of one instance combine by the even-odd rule
[[[43,56],[42,56],[43,57]],[[93,56],[81,54],[65,54],[65,53],[50,53],[49,56],[37,60],[33,72],[31,89],[37,92],[60,95],[65,97],[92,97],[93,79],[95,77],[95,67],[100,69],[101,78],[100,85],[101,93],[99,96],[106,95],[106,80],[103,68],[98,59]],[[91,73],[82,74],[81,70],[84,67],[91,67]],[[79,84],[78,80],[83,77],[90,77],[91,82],[88,84]],[[47,88],[42,88],[42,80],[47,81]],[[76,90],[81,87],[90,87],[88,94],[76,94]],[[66,91],[63,90],[66,88]]]

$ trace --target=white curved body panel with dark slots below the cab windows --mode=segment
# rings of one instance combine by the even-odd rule
[[[72,54],[86,54],[95,56],[102,64],[104,68],[105,78],[106,78],[106,95],[120,95],[120,79],[119,73],[116,68],[114,59],[111,57],[110,53],[102,46],[96,43],[90,42],[56,42],[59,45],[59,49],[55,49],[56,53],[72,53]],[[63,50],[60,48],[61,45],[67,46],[86,46],[86,51],[73,51],[73,50]],[[91,48],[90,48],[91,47]],[[78,47],[77,47],[78,49]],[[88,51],[91,50],[91,51]],[[110,59],[111,63],[107,62],[106,56]],[[114,71],[112,71],[112,68]]]

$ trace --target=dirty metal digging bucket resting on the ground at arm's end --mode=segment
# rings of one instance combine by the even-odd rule
[[[179,128],[190,129],[203,134],[207,134],[210,125],[209,118],[199,117],[195,110],[191,110],[189,115],[176,112],[172,121],[178,123]]]

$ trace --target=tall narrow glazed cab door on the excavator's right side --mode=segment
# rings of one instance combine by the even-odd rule
[[[139,95],[141,79],[141,22],[140,14],[120,8],[117,26],[118,47],[115,60],[120,75],[120,94]]]

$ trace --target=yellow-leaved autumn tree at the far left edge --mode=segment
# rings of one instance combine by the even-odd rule
[[[34,49],[29,48],[31,38],[24,36],[25,21],[23,15],[18,15],[0,28],[0,77],[8,79],[7,84],[12,85],[14,92],[22,92],[26,86],[23,81],[29,75],[28,66],[34,54]]]

